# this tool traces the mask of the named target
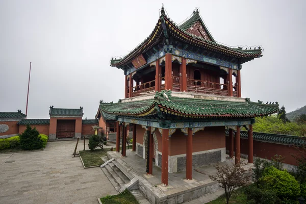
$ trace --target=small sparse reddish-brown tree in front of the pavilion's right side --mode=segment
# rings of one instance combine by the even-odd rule
[[[217,174],[209,175],[212,181],[217,181],[224,189],[227,204],[236,188],[247,186],[251,182],[251,169],[245,170],[243,166],[244,164],[241,163],[231,166],[228,164],[217,164],[215,166],[217,169]]]

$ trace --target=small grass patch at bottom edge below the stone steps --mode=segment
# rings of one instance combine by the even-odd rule
[[[128,190],[123,191],[118,195],[107,195],[100,198],[103,204],[137,204],[139,203],[134,195]]]

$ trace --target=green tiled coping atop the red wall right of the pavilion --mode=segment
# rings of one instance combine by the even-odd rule
[[[225,131],[228,136],[228,130]],[[234,134],[235,136],[235,134]],[[248,138],[247,131],[240,131],[240,137]],[[303,145],[306,144],[306,140],[303,137],[293,135],[281,135],[281,134],[270,134],[270,133],[259,133],[253,132],[253,139],[272,143],[282,143],[288,145]]]

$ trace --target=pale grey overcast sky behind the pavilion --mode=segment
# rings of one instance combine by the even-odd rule
[[[0,112],[48,118],[49,106],[84,107],[124,97],[123,71],[110,67],[154,29],[162,3],[180,23],[195,7],[218,42],[262,45],[242,65],[242,97],[278,101],[287,112],[306,105],[305,1],[13,1],[0,0]]]

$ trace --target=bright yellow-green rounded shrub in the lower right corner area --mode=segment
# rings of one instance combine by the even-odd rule
[[[294,176],[274,166],[265,169],[260,183],[266,190],[274,190],[280,198],[295,198],[300,194],[300,186]]]

